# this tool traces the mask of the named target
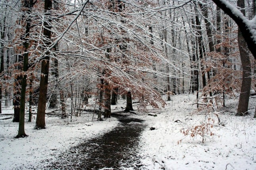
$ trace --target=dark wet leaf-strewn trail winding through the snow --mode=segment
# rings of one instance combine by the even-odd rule
[[[99,170],[139,169],[139,136],[146,125],[141,119],[118,117],[112,131],[71,147],[47,169]]]

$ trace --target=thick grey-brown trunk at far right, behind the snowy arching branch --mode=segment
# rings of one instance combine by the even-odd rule
[[[238,0],[237,6],[241,7],[241,12],[245,15],[244,0]],[[239,103],[238,103],[236,115],[243,116],[248,114],[248,104],[249,104],[250,87],[251,87],[251,64],[250,64],[250,57],[249,57],[248,49],[246,46],[246,42],[244,40],[244,37],[242,35],[240,28],[238,29],[237,40],[238,40],[240,58],[241,58],[242,68],[243,68],[243,76],[242,76],[241,93],[239,97]]]

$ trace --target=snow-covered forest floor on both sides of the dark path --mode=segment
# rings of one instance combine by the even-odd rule
[[[255,96],[250,98],[250,115],[245,117],[235,116],[238,98],[227,98],[226,107],[214,106],[215,111],[210,107],[197,110],[196,104],[193,104],[194,94],[179,94],[171,98],[165,108],[149,108],[147,113],[130,115],[143,119],[147,127],[139,137],[137,157],[140,163],[124,169],[256,169]],[[200,105],[200,108],[203,106]],[[119,101],[118,105],[112,106],[112,110],[119,111],[122,107],[125,107],[125,101]],[[35,130],[34,115],[32,122],[25,123],[25,132],[29,136],[16,139],[18,123],[5,119],[13,116],[13,109],[3,108],[2,112],[0,169],[3,170],[44,169],[56,160],[56,155],[85,140],[102,136],[118,124],[116,118],[92,121],[91,113],[73,116],[72,122],[70,118],[47,115],[46,129]]]

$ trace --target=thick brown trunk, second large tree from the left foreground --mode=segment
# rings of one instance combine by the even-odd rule
[[[46,16],[50,15],[50,10],[52,8],[52,1],[44,1],[44,11]],[[50,47],[51,44],[51,28],[50,19],[44,21],[44,44],[45,48]],[[50,52],[48,51],[44,58],[42,59],[41,64],[41,76],[40,76],[40,89],[39,89],[39,99],[38,99],[38,108],[37,108],[37,120],[36,120],[36,129],[45,128],[45,110],[46,110],[46,100],[47,100],[47,87],[48,87],[48,74],[49,74],[49,60]]]

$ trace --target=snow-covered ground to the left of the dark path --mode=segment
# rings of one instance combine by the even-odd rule
[[[90,114],[89,114],[90,115]],[[33,122],[25,123],[26,138],[14,138],[18,123],[12,119],[0,122],[0,169],[41,169],[45,162],[55,160],[63,151],[79,142],[114,128],[115,118],[107,121],[89,121],[92,116],[74,117],[73,123],[67,125],[67,119],[46,117],[46,129],[35,130]],[[79,123],[80,122],[80,123]]]

